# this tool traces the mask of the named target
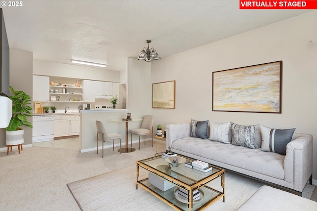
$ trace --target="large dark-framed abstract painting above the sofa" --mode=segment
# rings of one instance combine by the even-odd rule
[[[282,61],[212,72],[212,111],[282,113]]]

